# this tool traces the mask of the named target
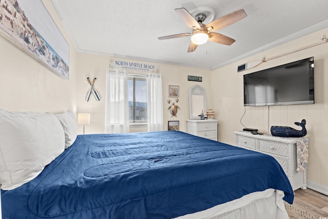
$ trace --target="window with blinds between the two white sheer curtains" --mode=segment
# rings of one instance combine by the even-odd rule
[[[128,75],[129,122],[147,123],[147,81],[144,75]]]

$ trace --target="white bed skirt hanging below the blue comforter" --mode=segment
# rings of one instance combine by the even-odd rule
[[[267,189],[175,219],[289,219],[280,190]]]

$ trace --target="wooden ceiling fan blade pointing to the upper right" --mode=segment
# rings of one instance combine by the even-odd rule
[[[216,31],[229,25],[232,25],[245,17],[247,17],[247,14],[243,9],[240,9],[212,21],[210,24],[206,25],[205,28],[209,31]]]

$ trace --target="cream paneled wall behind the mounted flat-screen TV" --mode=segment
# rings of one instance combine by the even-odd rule
[[[325,189],[328,189],[328,140],[326,137],[328,133],[326,89],[328,87],[328,43],[272,59],[242,72],[237,72],[237,66],[318,43],[327,32],[328,29],[317,31],[212,72],[212,93],[216,94],[212,101],[214,110],[217,112],[216,118],[219,120],[218,140],[234,144],[233,132],[243,128],[240,124],[240,118],[244,112],[243,74],[314,56],[315,104],[246,107],[242,123],[249,128],[270,132],[270,127],[273,125],[298,128],[294,122],[300,122],[305,118],[308,130],[306,137],[309,138],[308,180],[326,187]]]

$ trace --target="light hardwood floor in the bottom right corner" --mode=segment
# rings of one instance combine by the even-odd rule
[[[299,217],[291,218],[321,218],[328,219],[328,196],[322,193],[316,192],[312,189],[297,189],[295,192],[295,198],[293,208],[303,210]],[[312,216],[307,216],[311,214]]]

